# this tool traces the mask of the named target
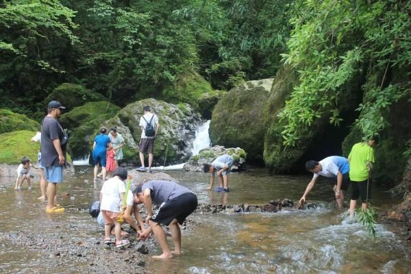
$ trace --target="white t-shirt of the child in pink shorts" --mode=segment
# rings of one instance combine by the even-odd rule
[[[125,186],[119,177],[112,177],[105,181],[101,188],[100,210],[120,212],[123,206],[120,193],[125,193]]]

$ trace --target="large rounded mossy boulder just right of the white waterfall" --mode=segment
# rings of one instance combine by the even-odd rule
[[[273,78],[245,82],[229,90],[212,112],[210,139],[216,145],[242,147],[247,160],[262,164],[264,118]]]

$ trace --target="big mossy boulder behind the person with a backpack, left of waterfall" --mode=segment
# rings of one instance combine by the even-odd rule
[[[139,123],[145,105],[149,105],[151,112],[157,114],[160,123],[158,136],[155,138],[154,163],[177,164],[187,160],[190,156],[190,145],[195,138],[195,128],[201,121],[197,112],[187,103],[173,105],[155,99],[130,103],[120,110],[117,116],[121,123],[129,128],[136,143],[140,141]]]

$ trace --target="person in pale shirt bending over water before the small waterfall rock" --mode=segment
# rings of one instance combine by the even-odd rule
[[[234,158],[232,156],[224,154],[216,158],[211,164],[204,164],[203,171],[205,173],[211,173],[210,186],[208,190],[212,189],[214,184],[214,173],[217,173],[219,179],[218,192],[229,192],[228,188],[228,173],[234,164]]]

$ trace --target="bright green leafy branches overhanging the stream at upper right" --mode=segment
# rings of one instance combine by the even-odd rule
[[[388,71],[410,65],[410,1],[299,1],[284,61],[299,73],[286,107],[284,145],[297,144],[314,121],[338,125],[340,87],[367,68],[356,124],[368,138],[386,125],[390,105],[410,93],[408,81],[390,84]]]

